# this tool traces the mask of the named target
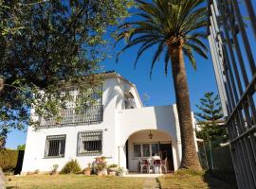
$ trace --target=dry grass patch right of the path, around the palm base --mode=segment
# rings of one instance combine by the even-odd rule
[[[205,172],[179,170],[158,178],[161,189],[233,189],[228,183],[216,180]]]

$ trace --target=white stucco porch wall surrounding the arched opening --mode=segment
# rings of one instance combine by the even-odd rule
[[[119,143],[119,166],[126,167],[125,142],[135,132],[143,129],[158,129],[166,132],[172,140],[174,170],[181,161],[180,131],[176,106],[146,107],[117,111],[117,135]],[[132,168],[135,168],[133,166]]]

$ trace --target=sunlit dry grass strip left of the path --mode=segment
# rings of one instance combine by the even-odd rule
[[[141,178],[120,178],[120,177],[98,177],[83,175],[29,175],[9,177],[7,188],[42,188],[42,189],[142,189],[143,179]]]

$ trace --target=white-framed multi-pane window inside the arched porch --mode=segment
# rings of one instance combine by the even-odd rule
[[[135,144],[134,145],[134,157],[150,157],[159,154],[159,145],[153,144]]]

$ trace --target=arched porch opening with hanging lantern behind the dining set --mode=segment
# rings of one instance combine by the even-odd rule
[[[138,172],[139,159],[160,156],[167,159],[168,171],[174,170],[172,138],[166,131],[143,129],[129,136],[123,148],[126,155],[126,168]]]

